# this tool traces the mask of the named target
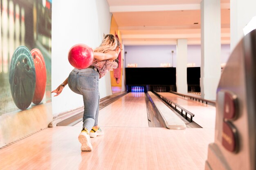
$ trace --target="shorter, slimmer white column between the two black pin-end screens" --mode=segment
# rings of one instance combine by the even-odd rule
[[[186,39],[177,40],[177,66],[176,66],[176,86],[177,93],[188,93],[186,79],[186,64],[188,60],[188,45]]]

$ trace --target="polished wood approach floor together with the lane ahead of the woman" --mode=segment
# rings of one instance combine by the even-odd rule
[[[128,93],[100,110],[105,134],[91,138],[92,152],[80,150],[81,123],[57,126],[0,149],[0,169],[204,170],[214,128],[149,128],[142,94]]]

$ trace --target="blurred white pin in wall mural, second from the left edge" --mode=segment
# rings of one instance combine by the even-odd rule
[[[13,55],[13,52],[15,50],[15,40],[14,40],[14,35],[15,35],[15,29],[14,29],[14,5],[12,0],[9,1],[9,63],[11,62],[11,56]]]

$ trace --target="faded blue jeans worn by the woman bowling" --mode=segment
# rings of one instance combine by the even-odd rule
[[[83,128],[90,132],[98,125],[99,73],[92,68],[74,68],[68,77],[68,86],[74,93],[83,95]]]

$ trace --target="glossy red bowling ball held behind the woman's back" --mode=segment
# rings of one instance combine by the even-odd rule
[[[92,64],[93,51],[85,44],[76,44],[68,52],[68,61],[74,68],[87,68]]]

